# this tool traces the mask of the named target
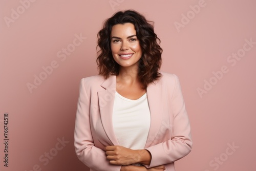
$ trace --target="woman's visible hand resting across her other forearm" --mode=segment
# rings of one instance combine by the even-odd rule
[[[110,160],[110,164],[130,165],[140,162],[140,154],[137,150],[126,148],[119,145],[106,146],[106,158]]]

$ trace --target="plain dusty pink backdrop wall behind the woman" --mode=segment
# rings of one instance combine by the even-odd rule
[[[96,34],[103,20],[134,9],[155,22],[161,70],[177,74],[182,85],[194,146],[176,162],[177,170],[256,170],[256,44],[246,43],[256,42],[255,7],[253,0],[1,0],[0,169],[89,170],[73,146],[79,80],[97,74]],[[44,80],[29,90],[34,75]]]

